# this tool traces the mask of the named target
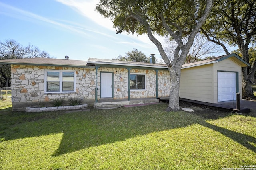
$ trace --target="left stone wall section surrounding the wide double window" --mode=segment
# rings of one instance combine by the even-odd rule
[[[76,71],[76,92],[44,93],[44,70]],[[25,110],[38,102],[50,101],[54,98],[84,98],[94,102],[95,99],[95,68],[74,68],[57,66],[12,65],[12,104],[13,111]]]

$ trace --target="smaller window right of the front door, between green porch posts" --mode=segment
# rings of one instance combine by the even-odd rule
[[[146,88],[146,81],[145,81],[146,75],[144,74],[130,74],[130,89],[131,90],[138,90]]]

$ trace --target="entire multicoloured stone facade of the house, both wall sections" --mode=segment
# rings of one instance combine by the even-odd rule
[[[76,74],[76,90],[68,93],[45,93],[45,70],[73,70]],[[12,65],[12,103],[13,110],[24,110],[24,107],[36,105],[36,102],[47,102],[54,98],[83,98],[85,102],[94,104],[96,88],[95,67],[57,67],[57,66],[28,66]],[[113,73],[113,99],[128,100],[128,69],[127,68],[98,68],[97,98],[100,99],[100,72]],[[156,97],[156,71],[148,69],[131,69],[131,74],[146,76],[145,90],[130,90],[130,98]],[[158,97],[170,95],[170,76],[167,70],[158,71]]]

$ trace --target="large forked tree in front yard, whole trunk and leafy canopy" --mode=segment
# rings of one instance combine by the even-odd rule
[[[181,66],[194,37],[206,20],[213,0],[99,0],[96,10],[112,20],[116,33],[147,34],[168,67],[171,90],[168,109],[178,111]],[[155,34],[170,36],[177,43],[172,61]],[[182,37],[188,37],[186,43]]]

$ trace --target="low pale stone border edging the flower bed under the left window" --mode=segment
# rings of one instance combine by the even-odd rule
[[[59,110],[78,110],[88,107],[89,104],[81,104],[74,106],[58,106],[58,107],[26,107],[26,112],[45,112],[45,111],[59,111]]]

